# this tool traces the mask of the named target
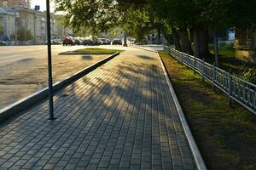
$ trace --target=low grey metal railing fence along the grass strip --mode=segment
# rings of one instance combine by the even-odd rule
[[[256,85],[242,80],[232,75],[230,72],[219,69],[215,65],[210,65],[204,59],[195,58],[192,55],[177,51],[174,48],[164,46],[164,50],[169,52],[175,59],[184,65],[189,66],[201,75],[202,80],[207,79],[212,82],[212,88],[219,88],[228,96],[229,102],[232,99],[243,105],[247,110],[256,114]]]

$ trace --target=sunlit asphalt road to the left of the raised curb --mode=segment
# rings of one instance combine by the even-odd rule
[[[107,55],[58,55],[83,46],[52,46],[54,82]],[[47,46],[0,47],[0,109],[47,86]]]

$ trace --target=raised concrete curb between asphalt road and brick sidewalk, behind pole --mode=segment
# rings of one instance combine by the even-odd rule
[[[107,58],[102,59],[102,60],[96,62],[95,64],[90,65],[90,66],[84,68],[83,70],[76,72],[75,74],[73,74],[73,76],[67,77],[66,79],[64,79],[61,82],[56,82],[53,85],[54,92],[56,92],[57,90],[59,90],[61,88],[66,87],[67,85],[78,80],[79,78],[84,77],[84,75],[90,73],[91,71],[94,71],[97,67],[107,63],[110,59],[113,59],[117,55],[119,55],[119,53],[112,54],[112,55],[108,56]],[[15,102],[14,104],[3,108],[2,110],[0,110],[0,122],[6,121],[11,116],[15,116],[20,111],[26,110],[28,107],[38,103],[38,101],[40,101],[42,99],[46,99],[47,97],[48,97],[48,88],[43,88],[42,90],[39,90],[38,92],[27,96],[25,99],[20,99],[19,101]]]

